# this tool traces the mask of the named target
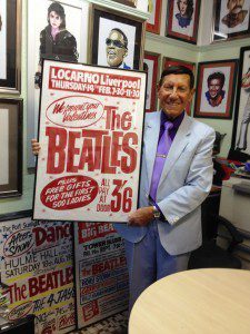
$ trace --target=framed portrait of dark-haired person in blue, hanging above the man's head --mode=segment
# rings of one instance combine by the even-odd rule
[[[200,0],[169,0],[166,36],[192,45],[197,43],[199,29]]]

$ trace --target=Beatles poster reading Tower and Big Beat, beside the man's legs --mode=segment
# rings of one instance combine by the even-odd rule
[[[128,308],[123,240],[110,223],[74,225],[78,327]]]

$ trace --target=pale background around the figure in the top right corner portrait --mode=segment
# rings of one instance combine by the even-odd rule
[[[249,24],[249,10],[250,10],[250,0],[244,0],[242,10],[247,10],[248,13],[241,24],[238,24],[233,28],[228,28],[223,22],[222,19],[224,16],[229,13],[229,10],[227,8],[228,0],[221,0],[221,7],[220,7],[220,24],[219,24],[219,31],[223,33],[233,33],[233,32],[240,32],[248,30]]]

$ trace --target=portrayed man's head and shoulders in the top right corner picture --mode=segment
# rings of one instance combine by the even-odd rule
[[[222,18],[222,23],[228,28],[234,28],[241,24],[248,13],[243,10],[244,0],[228,0],[227,8],[229,13]]]

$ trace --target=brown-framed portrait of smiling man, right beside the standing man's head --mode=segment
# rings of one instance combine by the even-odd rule
[[[238,60],[198,65],[194,117],[231,119]]]

